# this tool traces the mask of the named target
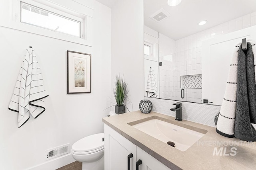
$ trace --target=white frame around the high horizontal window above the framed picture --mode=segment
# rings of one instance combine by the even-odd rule
[[[34,25],[26,24],[20,22],[20,2],[48,10],[50,12],[56,13],[67,18],[77,20],[80,18],[83,21],[81,25],[84,27],[81,29],[82,35],[80,37],[75,37],[74,35],[68,35],[65,33],[60,33],[57,31],[52,31],[50,29],[37,27]],[[59,39],[63,41],[68,41],[72,43],[77,43],[81,45],[86,45],[92,47],[92,14],[93,9],[87,6],[80,6],[79,3],[74,1],[62,1],[62,0],[10,0],[10,13],[9,17],[4,18],[0,22],[0,26],[7,27],[19,31],[24,31],[28,33],[33,33],[36,35],[42,35],[45,37],[50,37],[54,39]],[[57,11],[57,12],[56,12]]]

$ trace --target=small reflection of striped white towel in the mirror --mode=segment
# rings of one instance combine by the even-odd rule
[[[146,92],[149,98],[156,98],[158,95],[157,93],[157,85],[156,85],[156,78],[154,74],[154,70],[150,67],[149,74],[148,74],[148,82]]]

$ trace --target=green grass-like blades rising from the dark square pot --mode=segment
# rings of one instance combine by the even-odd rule
[[[116,75],[114,88],[114,97],[116,99],[117,106],[124,106],[124,101],[128,98],[127,84],[124,82],[124,76],[120,77],[120,74]]]

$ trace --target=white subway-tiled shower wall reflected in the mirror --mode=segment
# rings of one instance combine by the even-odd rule
[[[159,98],[202,102],[202,90],[186,89],[181,98],[180,76],[202,74],[202,41],[256,25],[256,12],[174,41],[159,34]],[[164,44],[164,45],[163,45]],[[172,50],[174,49],[174,50]],[[174,51],[170,53],[170,51]],[[166,57],[168,55],[169,57]]]

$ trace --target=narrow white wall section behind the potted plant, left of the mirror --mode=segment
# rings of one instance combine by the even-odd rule
[[[122,0],[112,7],[112,88],[116,74],[125,76],[130,111],[144,99],[144,1]]]

